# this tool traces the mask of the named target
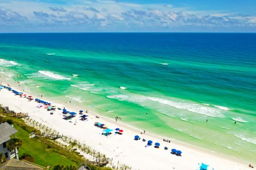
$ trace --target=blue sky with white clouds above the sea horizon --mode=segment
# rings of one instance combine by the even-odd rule
[[[256,1],[0,0],[0,32],[256,32]]]

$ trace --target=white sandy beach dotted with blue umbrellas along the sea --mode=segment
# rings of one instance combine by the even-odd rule
[[[16,88],[14,89],[21,91]],[[33,94],[27,95],[33,96]],[[79,115],[77,115],[69,122],[69,120],[62,119],[62,111],[57,110],[53,115],[50,115],[50,112],[46,111],[46,109],[36,108],[38,104],[34,100],[28,101],[26,98],[20,98],[6,89],[0,91],[0,98],[0,104],[2,106],[8,106],[10,110],[15,112],[28,113],[34,120],[51,127],[60,132],[60,134],[85,143],[87,146],[105,154],[106,157],[113,158],[115,162],[119,161],[121,164],[131,166],[132,169],[197,169],[199,167],[198,163],[205,163],[219,170],[251,169],[248,167],[249,163],[237,160],[236,158],[190,146],[172,139],[170,139],[171,143],[167,143],[163,141],[163,138],[148,134],[147,132],[141,135],[140,132],[142,130],[137,130],[100,115],[100,118],[96,118],[95,114],[91,111],[89,111],[89,119],[87,121],[79,120]],[[52,101],[45,98],[40,99],[52,103]],[[54,105],[63,106],[63,104],[56,103]],[[79,110],[87,110],[86,107],[66,108],[68,111],[74,111],[76,113]],[[124,133],[123,135],[113,133],[106,137],[105,135],[101,135],[102,129],[95,127],[93,125],[94,122],[104,123],[110,129],[123,129]],[[141,140],[135,141],[134,135],[140,135]],[[152,140],[153,143],[159,142],[161,146],[159,149],[154,148],[154,145],[145,147],[147,142],[142,142],[142,138]],[[164,150],[165,146],[169,149]],[[172,148],[181,150],[182,156],[172,155],[170,153]]]

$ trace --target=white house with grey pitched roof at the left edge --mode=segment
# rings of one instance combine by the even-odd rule
[[[7,159],[15,158],[15,151],[9,151],[6,148],[6,143],[11,139],[11,135],[15,137],[15,133],[18,132],[9,123],[5,122],[0,124],[0,153],[3,153]],[[19,159],[18,149],[16,148],[16,159]]]

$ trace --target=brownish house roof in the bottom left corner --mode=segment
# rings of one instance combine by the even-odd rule
[[[42,170],[43,168],[23,162],[17,159],[10,159],[7,162],[0,165],[0,170]]]

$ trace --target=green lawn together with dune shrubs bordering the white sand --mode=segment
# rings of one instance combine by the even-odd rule
[[[7,122],[8,120],[8,122],[13,123],[14,128],[18,130],[18,132],[15,133],[15,138],[22,141],[22,146],[20,146],[18,141],[16,141],[15,145],[19,144],[18,146],[20,146],[20,159],[25,159],[44,167],[50,165],[50,169],[54,169],[54,166],[56,166],[63,170],[76,169],[77,165],[86,162],[86,159],[79,155],[75,149],[71,150],[69,147],[63,147],[63,145],[60,145],[60,143],[55,142],[54,140],[41,137],[29,138],[30,133],[36,132],[41,134],[41,132],[28,126],[21,119],[10,117],[7,114],[1,116],[1,113],[0,110],[0,123]],[[71,144],[75,145],[75,143]],[[93,165],[90,165],[90,168],[92,170],[111,170],[111,168],[97,167]]]

